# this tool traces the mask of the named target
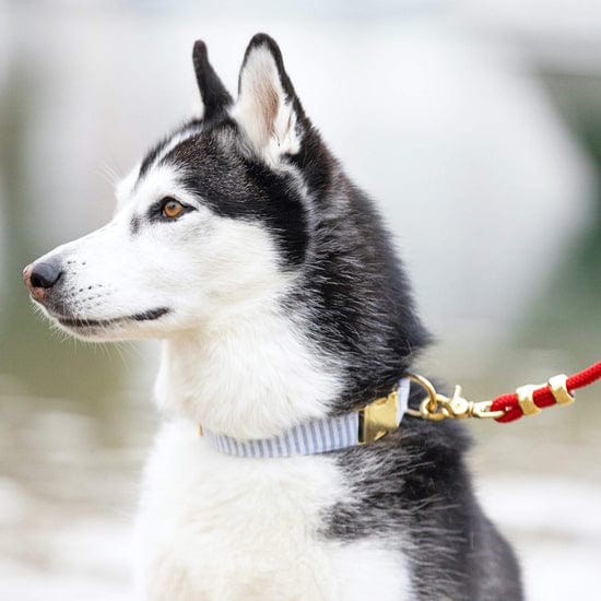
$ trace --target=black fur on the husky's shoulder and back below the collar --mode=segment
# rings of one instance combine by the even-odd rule
[[[422,397],[413,390],[410,404]],[[405,416],[397,434],[339,452],[353,502],[333,508],[326,535],[397,545],[417,599],[519,601],[519,567],[474,497],[468,447],[459,424]]]

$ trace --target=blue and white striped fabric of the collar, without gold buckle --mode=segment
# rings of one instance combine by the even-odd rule
[[[399,381],[399,424],[406,410],[409,389],[409,379],[403,378]],[[358,413],[352,411],[338,417],[314,420],[273,438],[241,441],[208,429],[204,429],[203,436],[216,450],[236,457],[317,455],[358,445]]]

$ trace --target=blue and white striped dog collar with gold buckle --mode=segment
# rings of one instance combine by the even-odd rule
[[[243,441],[210,429],[200,432],[214,449],[235,457],[318,455],[374,443],[396,432],[406,411],[409,390],[409,378],[403,378],[388,397],[376,399],[363,409],[305,422],[272,438]]]

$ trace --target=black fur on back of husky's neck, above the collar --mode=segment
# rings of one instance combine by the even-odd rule
[[[319,345],[344,357],[347,396],[335,408],[345,412],[389,392],[429,337],[377,211],[330,163],[314,203],[314,252],[288,303],[310,307]]]

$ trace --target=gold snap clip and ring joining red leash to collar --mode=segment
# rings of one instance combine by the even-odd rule
[[[469,401],[461,396],[461,387],[456,386],[451,397],[437,392],[434,385],[424,376],[408,374],[408,378],[420,385],[427,397],[420,403],[420,410],[408,409],[406,413],[413,417],[422,417],[432,422],[441,420],[467,420],[478,417],[481,420],[496,420],[505,415],[504,411],[491,411],[492,401]]]

